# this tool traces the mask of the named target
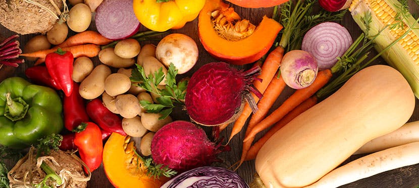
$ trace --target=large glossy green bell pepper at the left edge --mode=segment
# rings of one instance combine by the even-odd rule
[[[64,126],[63,105],[54,89],[21,77],[0,83],[0,144],[22,149],[38,139],[59,133]]]

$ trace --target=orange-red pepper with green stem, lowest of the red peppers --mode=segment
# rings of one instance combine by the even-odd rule
[[[80,158],[89,167],[90,172],[93,172],[102,163],[103,142],[100,128],[92,123],[82,123],[80,128],[85,129],[76,132],[74,144],[79,148]],[[87,169],[84,168],[87,173]]]

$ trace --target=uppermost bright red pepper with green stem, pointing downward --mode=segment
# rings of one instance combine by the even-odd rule
[[[73,92],[73,61],[73,54],[61,48],[45,57],[49,75],[61,86],[66,96],[70,96]]]

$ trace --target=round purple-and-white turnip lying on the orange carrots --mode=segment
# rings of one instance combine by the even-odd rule
[[[289,87],[301,89],[315,80],[318,65],[316,59],[308,52],[291,50],[284,55],[280,70],[284,82]]]

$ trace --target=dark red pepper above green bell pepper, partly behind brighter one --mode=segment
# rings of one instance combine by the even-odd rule
[[[25,70],[25,74],[33,83],[52,87],[57,90],[61,89],[60,85],[49,75],[46,66],[29,67]]]

